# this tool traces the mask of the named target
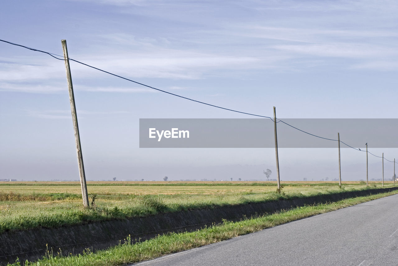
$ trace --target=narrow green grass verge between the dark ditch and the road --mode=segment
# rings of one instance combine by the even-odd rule
[[[292,210],[282,211],[276,214],[264,215],[258,218],[246,219],[240,222],[224,221],[219,226],[205,227],[203,229],[185,232],[159,235],[154,239],[133,244],[128,237],[124,243],[106,250],[92,252],[86,249],[83,254],[60,256],[47,251],[43,259],[36,262],[16,262],[8,266],[115,266],[128,263],[149,260],[166,254],[176,253],[203,245],[209,245],[222,240],[245,235],[261,229],[285,224],[294,220],[306,218],[316,214],[322,214],[347,206],[352,206],[369,200],[396,194],[396,191],[380,193],[366,197],[344,199],[330,204],[318,204],[314,206],[298,207]]]

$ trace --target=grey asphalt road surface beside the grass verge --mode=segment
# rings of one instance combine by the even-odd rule
[[[398,266],[398,195],[134,265]]]

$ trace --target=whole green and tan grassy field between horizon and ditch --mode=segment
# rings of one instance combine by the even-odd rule
[[[79,182],[0,182],[0,233],[366,189],[364,182],[281,185],[282,193],[276,182],[88,182],[91,208],[83,208]]]

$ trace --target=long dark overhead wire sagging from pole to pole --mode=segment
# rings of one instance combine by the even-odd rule
[[[60,56],[60,55],[58,55],[58,54],[53,54],[53,53],[46,52],[46,51],[43,51],[43,50],[38,50],[38,49],[31,48],[31,47],[28,47],[28,46],[24,46],[24,45],[21,45],[21,44],[16,44],[16,43],[14,43],[14,42],[8,42],[8,41],[6,41],[6,40],[1,40],[1,39],[0,39],[0,41],[6,42],[6,43],[12,44],[12,45],[20,46],[20,47],[23,47],[23,48],[26,48],[26,49],[29,49],[29,50],[32,50],[32,51],[42,52],[42,53],[48,54],[48,55],[50,55],[50,56],[52,56],[53,58],[58,59],[58,60],[65,60],[65,59],[64,59],[64,56]],[[56,56],[58,56],[58,57],[60,57],[60,58],[58,58],[58,57],[56,57]],[[197,102],[197,103],[200,103],[200,104],[205,104],[205,105],[208,105],[208,106],[213,106],[213,107],[215,107],[215,108],[220,108],[220,109],[223,109],[223,110],[227,110],[227,111],[231,111],[231,112],[236,112],[236,113],[240,113],[240,114],[247,114],[247,115],[250,115],[250,116],[257,116],[257,117],[262,117],[262,118],[269,118],[269,119],[271,119],[272,121],[274,121],[273,118],[271,118],[271,117],[269,117],[269,116],[261,116],[261,115],[257,115],[257,114],[250,114],[250,113],[241,112],[241,111],[237,111],[237,110],[233,110],[233,109],[229,109],[229,108],[224,108],[224,107],[217,106],[217,105],[214,105],[214,104],[209,104],[209,103],[206,103],[206,102],[201,102],[201,101],[198,101],[198,100],[194,100],[194,99],[192,99],[192,98],[188,98],[188,97],[185,97],[185,96],[181,96],[181,95],[179,95],[179,94],[170,93],[170,92],[168,92],[168,91],[164,91],[164,90],[161,90],[161,89],[158,89],[158,88],[155,88],[155,87],[152,87],[152,86],[149,86],[149,85],[140,83],[140,82],[138,82],[138,81],[134,81],[134,80],[132,80],[132,79],[128,79],[128,78],[126,78],[126,77],[122,77],[122,76],[116,75],[116,74],[114,74],[114,73],[105,71],[105,70],[100,69],[100,68],[98,68],[98,67],[90,66],[90,65],[88,65],[88,64],[85,64],[85,63],[80,62],[80,61],[78,61],[78,60],[74,60],[74,59],[72,59],[72,58],[68,58],[68,60],[74,61],[74,62],[76,62],[76,63],[78,63],[78,64],[82,64],[82,65],[87,66],[87,67],[91,67],[91,68],[93,68],[93,69],[97,69],[98,71],[102,71],[102,72],[107,73],[107,74],[109,74],[109,75],[113,75],[113,76],[115,76],[115,77],[119,77],[119,78],[121,78],[121,79],[125,79],[125,80],[127,80],[127,81],[131,81],[131,82],[133,82],[133,83],[142,85],[142,86],[144,86],[144,87],[148,87],[148,88],[154,89],[154,90],[156,90],[156,91],[161,91],[161,92],[163,92],[163,93],[167,93],[167,94],[170,94],[170,95],[173,95],[173,96],[177,96],[177,97],[180,97],[180,98],[183,98],[183,99],[186,99],[186,100],[191,100],[191,101],[193,101],[193,102]],[[288,123],[286,123],[286,122],[284,122],[284,121],[282,121],[282,120],[279,120],[279,121],[277,121],[276,123],[279,123],[279,122],[282,122],[282,123],[284,123],[285,125],[288,125],[288,126],[290,126],[290,127],[293,127],[294,129],[297,129],[298,131],[301,131],[301,132],[303,132],[303,133],[306,133],[306,134],[308,134],[308,135],[311,135],[311,136],[314,136],[314,137],[317,137],[317,138],[320,138],[320,139],[326,139],[326,140],[330,140],[330,141],[338,141],[337,139],[328,139],[328,138],[325,138],[325,137],[320,137],[320,136],[311,134],[311,133],[306,132],[306,131],[304,131],[304,130],[298,129],[297,127],[294,127],[293,125],[290,125],[290,124],[288,124]],[[354,148],[354,147],[352,147],[352,146],[350,146],[350,145],[344,143],[343,141],[340,141],[340,142],[343,143],[344,145],[350,147],[350,148],[355,149],[355,150],[363,151],[363,150],[360,150],[359,148]],[[369,152],[369,153],[372,154],[373,156],[378,157],[378,158],[382,158],[382,157],[377,156],[377,155],[375,155],[375,154],[373,154],[373,153],[371,153],[371,152]],[[386,159],[386,160],[387,160],[387,159]],[[392,162],[392,161],[390,161],[390,160],[387,160],[387,161]],[[398,164],[398,162],[396,162],[396,163]]]

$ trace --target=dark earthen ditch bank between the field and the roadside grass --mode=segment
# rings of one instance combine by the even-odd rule
[[[334,202],[341,199],[361,197],[398,190],[398,187],[344,191],[291,200],[248,203],[218,208],[160,213],[152,216],[124,220],[93,222],[76,226],[40,228],[25,231],[10,231],[0,234],[0,263],[35,260],[48,250],[63,255],[81,253],[84,249],[105,249],[124,242],[128,235],[138,241],[158,234],[200,229],[219,224],[223,219],[237,221],[242,218],[262,215],[310,204]]]

